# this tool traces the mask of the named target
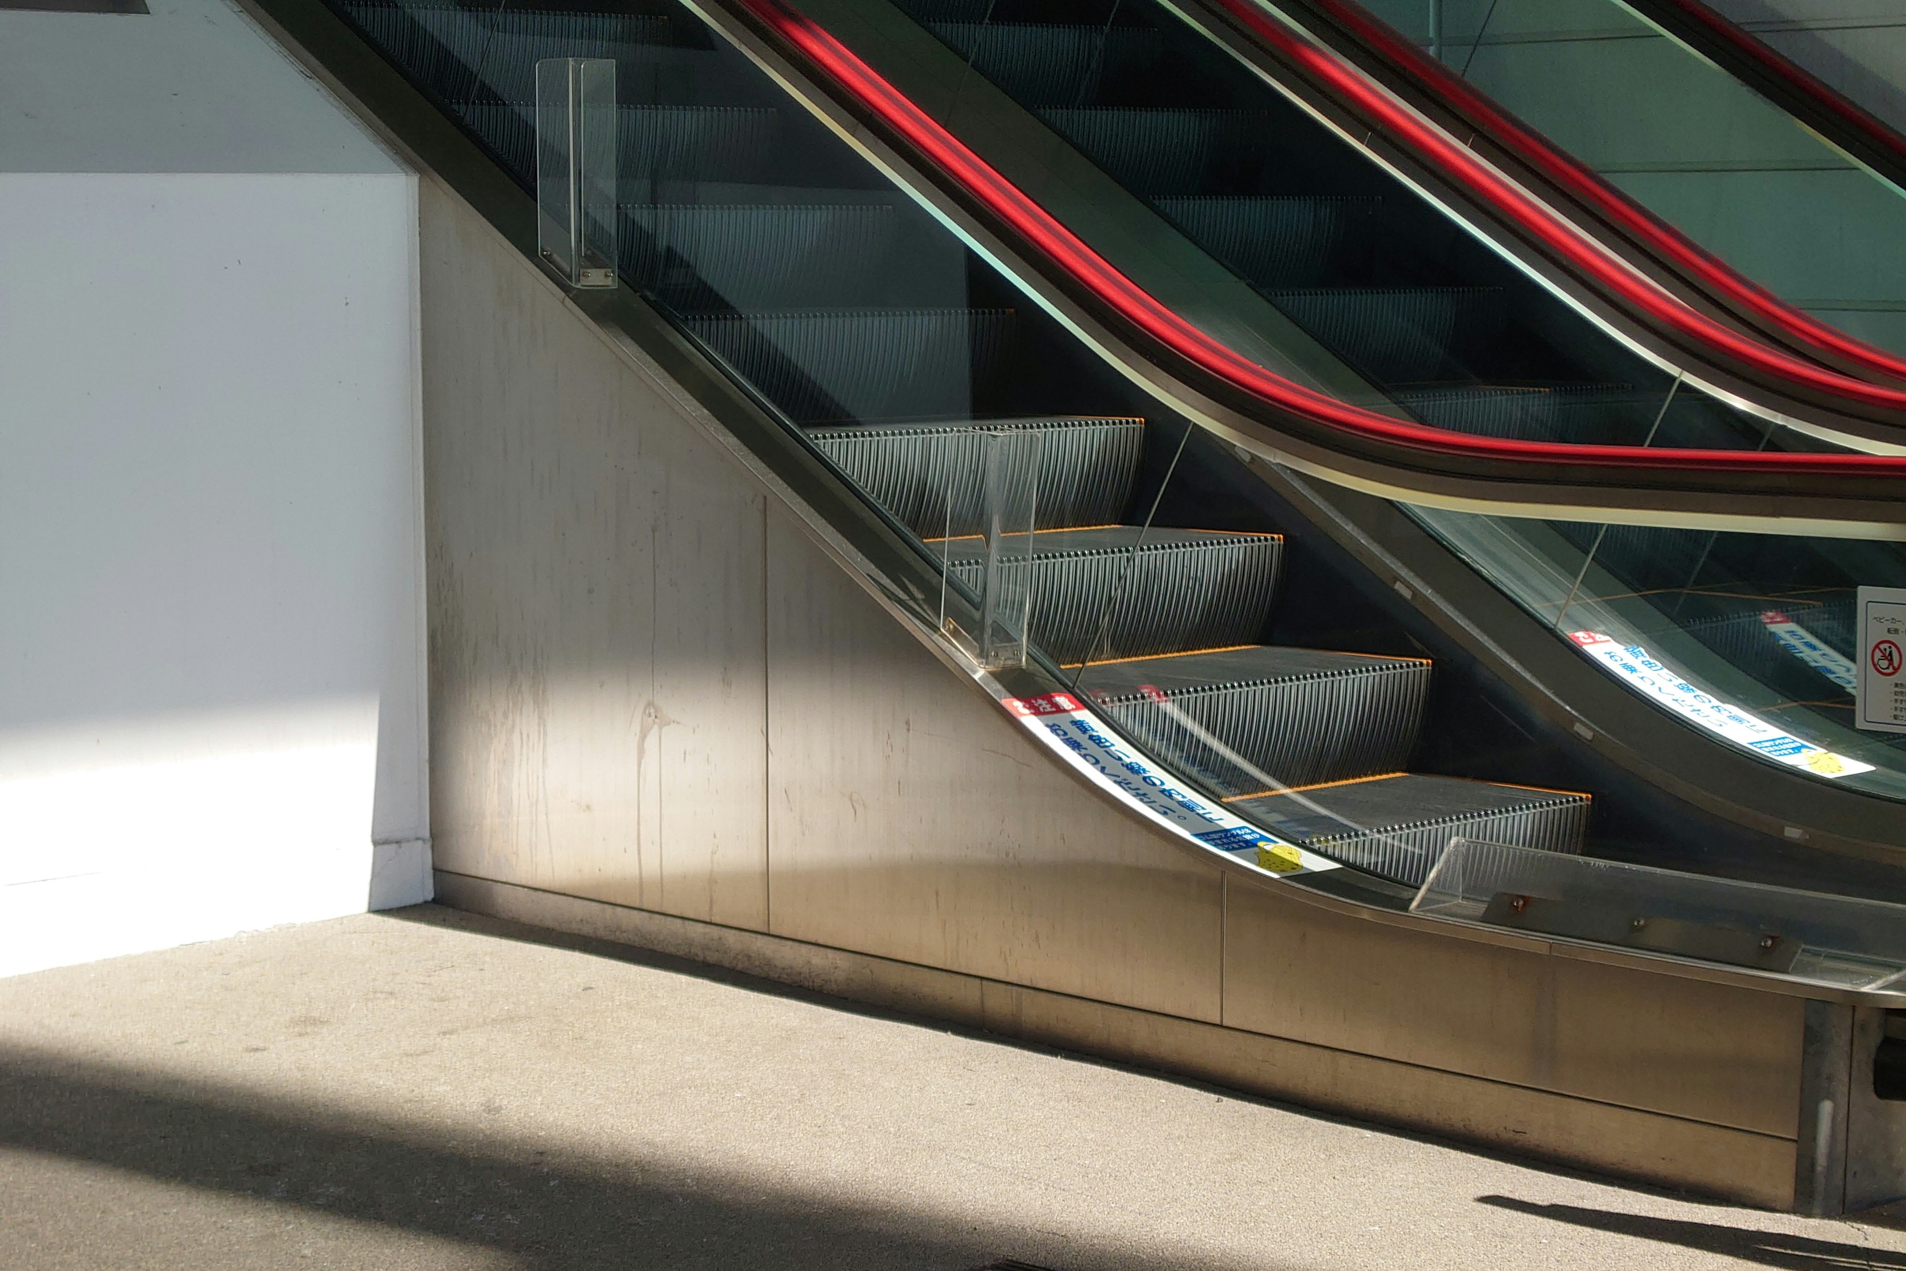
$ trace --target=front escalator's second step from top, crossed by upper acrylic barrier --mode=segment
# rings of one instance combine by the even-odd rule
[[[524,181],[536,177],[534,103],[473,101],[469,126]],[[618,111],[619,202],[656,202],[658,181],[759,181],[774,156],[774,107],[640,107]]]

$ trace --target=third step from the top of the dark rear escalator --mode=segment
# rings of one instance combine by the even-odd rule
[[[1353,194],[1151,202],[1191,242],[1260,288],[1313,288],[1359,269],[1384,204]]]

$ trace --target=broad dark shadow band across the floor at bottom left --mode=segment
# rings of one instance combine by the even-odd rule
[[[524,1271],[961,1271],[1012,1254],[1064,1267],[1105,1261],[983,1214],[892,1212],[797,1195],[768,1178],[686,1176],[640,1155],[566,1157],[467,1128],[433,1136],[27,1048],[0,1046],[0,1147],[482,1246]],[[1172,1256],[1126,1265],[1193,1271]]]

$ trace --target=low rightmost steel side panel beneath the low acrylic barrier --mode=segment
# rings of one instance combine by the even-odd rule
[[[1792,1140],[1805,999],[1574,962],[1229,888],[1224,1021]]]

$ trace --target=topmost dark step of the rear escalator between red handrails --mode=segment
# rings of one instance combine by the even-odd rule
[[[930,21],[982,76],[1031,107],[1079,107],[1100,84],[1144,74],[1165,51],[1155,27]]]

